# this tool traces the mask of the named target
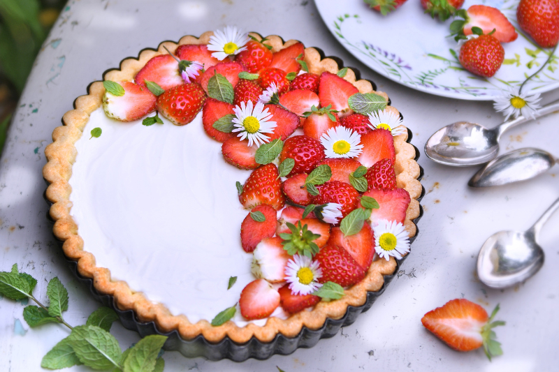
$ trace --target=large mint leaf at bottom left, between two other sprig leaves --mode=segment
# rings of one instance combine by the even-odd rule
[[[92,369],[119,368],[122,350],[117,339],[95,325],[80,325],[68,336],[80,362]]]

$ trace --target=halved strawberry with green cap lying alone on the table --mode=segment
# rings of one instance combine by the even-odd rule
[[[484,347],[487,357],[502,355],[501,344],[495,341],[494,327],[504,325],[500,320],[493,321],[499,311],[495,307],[491,317],[478,304],[467,299],[453,299],[441,307],[426,313],[421,323],[435,336],[458,351],[470,351]]]

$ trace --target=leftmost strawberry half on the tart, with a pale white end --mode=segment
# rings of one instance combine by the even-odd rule
[[[103,95],[103,110],[108,117],[120,121],[137,120],[155,110],[157,97],[146,87],[133,82],[119,82],[124,96],[115,96],[108,91]]]

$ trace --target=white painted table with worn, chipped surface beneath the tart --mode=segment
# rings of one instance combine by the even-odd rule
[[[317,0],[320,1],[320,0]],[[360,0],[352,0],[360,1]],[[70,292],[65,315],[72,325],[85,323],[99,306],[89,290],[76,281],[52,238],[45,220],[43,151],[52,130],[60,125],[73,100],[86,92],[89,82],[100,80],[145,47],[162,40],[236,24],[262,35],[296,38],[320,47],[346,66],[386,91],[412,128],[412,143],[423,144],[435,130],[458,119],[488,126],[500,123],[491,103],[454,101],[390,82],[351,57],[322,23],[312,1],[70,1],[53,27],[14,115],[8,142],[0,161],[0,270],[14,262],[38,279],[34,291],[45,299],[48,280],[58,276]],[[559,98],[546,94],[544,103]],[[559,156],[558,115],[507,133],[504,151],[539,147]],[[185,359],[166,352],[166,371],[553,371],[559,363],[559,214],[546,225],[541,245],[546,265],[527,283],[509,290],[489,290],[477,281],[475,262],[485,239],[498,230],[529,228],[559,197],[558,169],[532,181],[489,190],[472,190],[466,183],[475,172],[436,165],[421,151],[425,169],[425,214],[412,255],[384,295],[350,327],[319,341],[310,350],[286,357],[242,364],[228,360],[208,362]],[[421,317],[449,299],[465,297],[488,311],[501,304],[497,329],[504,356],[490,363],[481,350],[459,353],[447,348],[423,329]],[[58,325],[28,329],[19,302],[0,299],[0,370],[38,371],[41,358],[68,330]],[[22,325],[22,327],[20,327]],[[115,324],[112,333],[122,347],[138,335]],[[91,371],[74,367],[73,371]]]

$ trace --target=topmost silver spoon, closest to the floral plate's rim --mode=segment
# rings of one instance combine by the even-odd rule
[[[542,117],[559,110],[559,101],[549,103],[535,112]],[[509,128],[530,121],[519,116],[493,129],[468,121],[457,121],[436,131],[425,144],[425,154],[433,161],[455,167],[479,165],[493,160],[499,152],[501,135]]]

